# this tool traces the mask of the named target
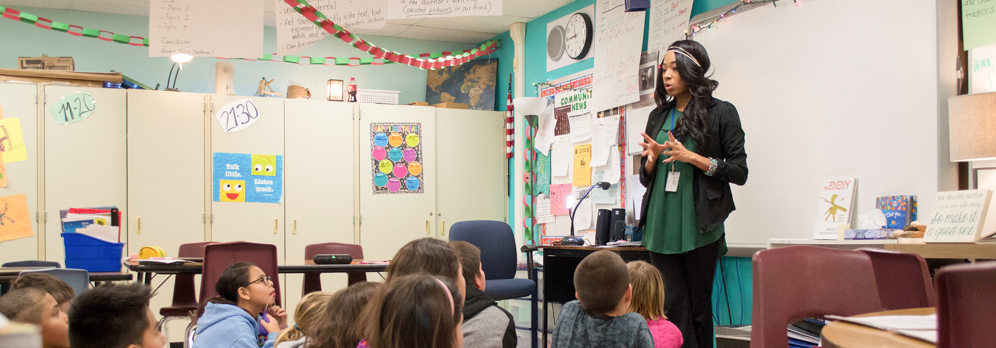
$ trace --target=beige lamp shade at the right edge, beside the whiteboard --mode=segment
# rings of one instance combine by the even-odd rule
[[[947,110],[951,161],[996,159],[996,92],[949,97]]]

